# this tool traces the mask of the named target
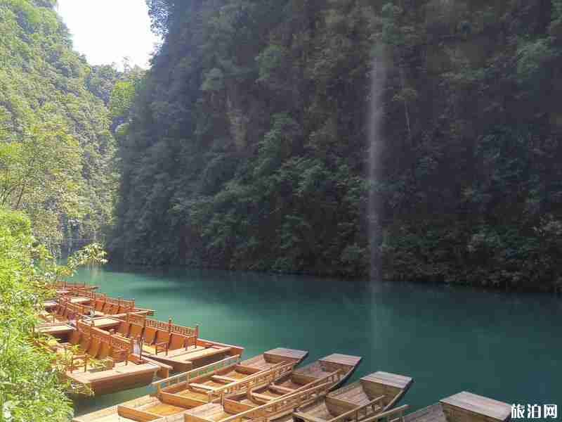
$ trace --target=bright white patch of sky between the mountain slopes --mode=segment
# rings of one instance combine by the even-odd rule
[[[150,32],[145,0],[58,0],[58,13],[72,34],[74,50],[91,65],[116,63],[122,68],[128,57],[131,65],[149,67],[159,38]]]

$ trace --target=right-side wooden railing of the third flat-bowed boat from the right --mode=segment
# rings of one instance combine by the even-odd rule
[[[316,385],[313,388],[308,388],[301,392],[292,393],[287,396],[280,397],[278,399],[272,400],[268,404],[262,404],[259,407],[254,407],[254,409],[249,409],[228,418],[221,419],[221,422],[233,422],[236,420],[242,421],[244,419],[252,419],[253,421],[266,422],[270,416],[276,416],[280,412],[288,411],[291,409],[296,409],[297,407],[303,406],[308,402],[313,402],[315,399],[327,395],[329,389],[332,388],[334,384],[323,383]],[[187,421],[187,418],[185,418]]]

